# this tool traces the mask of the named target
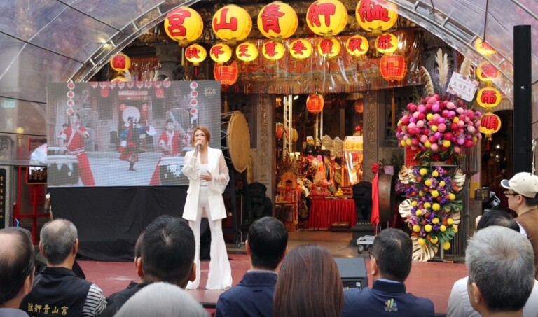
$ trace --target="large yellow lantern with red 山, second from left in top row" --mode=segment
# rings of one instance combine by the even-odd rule
[[[216,11],[212,25],[216,37],[235,45],[249,36],[252,19],[247,10],[230,4]]]

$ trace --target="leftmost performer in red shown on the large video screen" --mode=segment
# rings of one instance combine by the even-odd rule
[[[79,123],[81,116],[74,113],[69,116],[69,127],[62,130],[58,136],[60,148],[66,150],[67,155],[76,156],[78,159],[78,174],[85,186],[95,186],[90,161],[84,149],[84,140],[90,138],[90,134]]]

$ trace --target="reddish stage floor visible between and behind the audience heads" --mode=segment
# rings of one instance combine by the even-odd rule
[[[368,271],[368,253],[359,255],[356,247],[350,247],[352,239],[350,232],[298,231],[289,233],[289,248],[302,244],[319,244],[329,249],[336,258],[343,257],[366,257],[366,270]],[[249,269],[249,260],[244,254],[244,245],[236,248],[233,244],[228,245],[228,258],[232,267],[233,283],[239,282]],[[108,296],[118,290],[122,290],[131,280],[136,280],[135,265],[132,262],[78,262],[88,281],[97,284]],[[205,286],[209,262],[202,262],[202,279],[200,286]],[[420,297],[428,297],[434,302],[435,311],[446,314],[448,295],[453,283],[467,276],[464,264],[450,262],[413,262],[411,274],[406,281],[407,291]],[[368,286],[371,286],[372,278],[368,272]],[[191,290],[193,297],[199,302],[212,303],[219,298],[220,290]]]

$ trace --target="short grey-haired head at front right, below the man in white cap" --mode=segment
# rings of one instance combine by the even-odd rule
[[[478,230],[465,262],[469,300],[482,316],[523,309],[534,286],[534,253],[526,237],[506,227]]]

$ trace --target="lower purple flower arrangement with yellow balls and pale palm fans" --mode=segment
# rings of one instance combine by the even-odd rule
[[[412,232],[413,260],[430,260],[439,247],[450,248],[450,240],[457,232],[465,174],[456,167],[429,164],[402,167],[399,181],[396,190],[406,196],[399,213]]]

